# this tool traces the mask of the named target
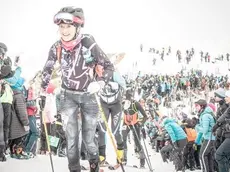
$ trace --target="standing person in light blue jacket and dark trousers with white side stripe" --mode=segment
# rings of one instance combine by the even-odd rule
[[[215,136],[212,134],[212,128],[215,125],[214,112],[203,99],[195,102],[195,107],[200,116],[200,124],[197,126],[199,132],[195,143],[199,144],[203,139],[200,149],[202,169],[203,172],[214,172]]]

